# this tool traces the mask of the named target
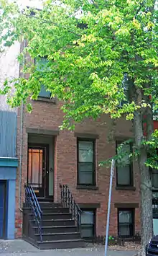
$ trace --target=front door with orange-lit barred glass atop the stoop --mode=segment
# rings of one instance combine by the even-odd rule
[[[38,198],[48,197],[49,146],[29,145],[27,183],[32,185]]]

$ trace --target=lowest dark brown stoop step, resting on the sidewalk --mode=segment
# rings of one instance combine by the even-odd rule
[[[37,244],[41,250],[71,249],[71,248],[85,247],[85,244],[82,239],[45,241],[45,242],[37,242]]]

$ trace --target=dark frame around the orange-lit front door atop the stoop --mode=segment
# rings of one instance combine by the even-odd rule
[[[28,183],[28,166],[29,166],[29,149],[44,149],[45,148],[45,175],[42,172],[42,184],[44,184],[44,196],[40,198],[50,198],[49,196],[49,171],[50,171],[50,145],[49,144],[28,144],[27,150],[27,183]],[[52,198],[52,197],[51,197]]]

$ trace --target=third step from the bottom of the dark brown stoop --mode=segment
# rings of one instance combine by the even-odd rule
[[[37,226],[33,226],[32,229],[34,229],[35,233],[38,233]],[[77,232],[78,227],[77,226],[42,226],[42,233],[72,233]]]

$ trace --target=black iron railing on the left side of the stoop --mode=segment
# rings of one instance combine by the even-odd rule
[[[26,195],[26,204],[32,210],[34,214],[34,221],[36,222],[39,234],[40,241],[42,242],[42,211],[40,204],[38,203],[37,196],[34,193],[32,185],[25,185],[25,195]]]

